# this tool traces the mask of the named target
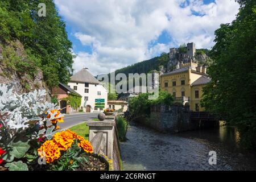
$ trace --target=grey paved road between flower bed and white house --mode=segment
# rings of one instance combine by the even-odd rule
[[[93,119],[93,118],[97,118],[97,116],[98,116],[98,113],[67,114],[64,116],[64,122],[58,123],[58,125],[62,129],[68,129],[71,126],[89,121],[90,119]]]

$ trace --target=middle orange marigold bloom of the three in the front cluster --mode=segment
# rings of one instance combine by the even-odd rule
[[[74,140],[73,134],[68,131],[61,131],[53,135],[53,141],[59,144],[60,150],[64,151],[71,147]]]

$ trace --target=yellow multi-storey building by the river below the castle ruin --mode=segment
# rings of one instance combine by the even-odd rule
[[[175,102],[189,104],[193,111],[203,111],[200,100],[203,87],[210,81],[206,67],[201,67],[190,61],[181,63],[180,68],[160,76],[160,87],[175,97]]]

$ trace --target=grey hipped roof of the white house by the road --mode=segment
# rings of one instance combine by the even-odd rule
[[[86,68],[82,68],[79,72],[71,76],[70,81],[100,84],[100,81],[98,81],[92,74],[90,74],[90,72],[88,72]]]

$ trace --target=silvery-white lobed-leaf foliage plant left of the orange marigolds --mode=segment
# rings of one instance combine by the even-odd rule
[[[51,110],[59,109],[45,101],[45,97],[46,90],[17,94],[12,84],[0,84],[0,147],[7,151],[1,158],[6,160],[5,167],[9,170],[27,169],[27,165],[17,159],[24,158],[30,149],[30,140],[37,139],[40,127],[54,118],[55,113]],[[49,131],[43,130],[40,134],[50,138],[54,133],[50,127]]]

